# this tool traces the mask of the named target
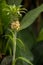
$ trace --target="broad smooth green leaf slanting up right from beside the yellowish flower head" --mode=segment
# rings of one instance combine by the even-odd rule
[[[25,29],[28,26],[30,26],[42,11],[43,11],[43,4],[39,6],[38,8],[35,8],[31,10],[30,12],[28,12],[21,21],[20,30]]]

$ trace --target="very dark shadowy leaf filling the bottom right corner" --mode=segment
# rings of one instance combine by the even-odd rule
[[[34,55],[34,64],[43,65],[43,41],[37,42],[33,46],[32,53]]]

